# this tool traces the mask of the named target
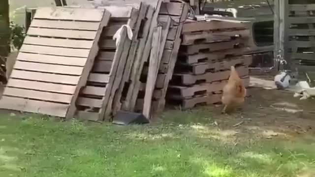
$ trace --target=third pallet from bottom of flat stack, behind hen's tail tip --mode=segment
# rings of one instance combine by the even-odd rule
[[[248,66],[239,66],[235,68],[240,77],[249,75]],[[206,72],[200,75],[192,73],[178,73],[174,74],[170,82],[171,85],[176,86],[190,86],[200,83],[212,83],[214,81],[226,80],[229,78],[230,70],[219,72]]]

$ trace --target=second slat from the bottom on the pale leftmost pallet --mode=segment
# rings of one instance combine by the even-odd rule
[[[36,91],[30,89],[5,88],[3,92],[5,96],[13,96],[20,98],[37,99],[44,101],[52,101],[59,103],[70,103],[72,95],[61,93],[50,93],[46,91]]]

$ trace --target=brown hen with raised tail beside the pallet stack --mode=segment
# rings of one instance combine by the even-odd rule
[[[221,101],[224,105],[222,113],[227,109],[241,106],[245,101],[246,89],[243,80],[239,77],[234,66],[231,66],[231,73],[227,84],[223,87]]]

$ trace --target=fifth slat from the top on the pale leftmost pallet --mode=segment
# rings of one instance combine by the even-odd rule
[[[47,55],[65,56],[65,57],[87,58],[89,56],[90,50],[61,48],[61,47],[48,47],[48,46],[35,46],[35,45],[24,44],[22,45],[20,52],[47,54]]]

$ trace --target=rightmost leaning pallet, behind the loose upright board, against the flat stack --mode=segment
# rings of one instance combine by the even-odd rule
[[[166,89],[168,86],[168,82],[173,75],[173,69],[175,66],[175,62],[177,60],[177,54],[181,42],[181,30],[183,22],[186,20],[189,11],[189,5],[186,3],[182,3],[179,1],[171,1],[162,3],[159,16],[161,17],[170,17],[171,26],[169,32],[167,34],[167,41],[163,50],[162,61],[159,66],[158,78],[155,86],[155,93],[153,94],[153,102],[157,106],[155,109],[152,109],[157,113],[164,109],[165,106],[165,95]],[[147,75],[147,69],[144,68],[143,75]],[[146,83],[143,83],[140,87],[140,91],[144,92],[144,86]],[[139,107],[138,103],[144,103],[141,101],[143,99],[141,93],[138,97],[137,101],[137,109]],[[147,107],[146,104],[143,105]]]

